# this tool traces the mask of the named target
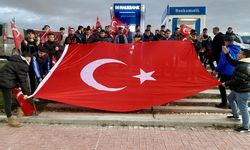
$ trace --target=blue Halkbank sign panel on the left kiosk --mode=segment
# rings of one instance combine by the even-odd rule
[[[115,3],[114,16],[123,23],[140,25],[141,4]]]

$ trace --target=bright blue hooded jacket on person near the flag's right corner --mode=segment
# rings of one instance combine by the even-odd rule
[[[227,46],[227,48],[229,49],[230,56],[236,60],[237,54],[240,52],[240,47],[234,44],[230,44]],[[215,68],[215,71],[221,72],[221,74],[227,75],[227,76],[233,75],[234,66],[232,66],[227,61],[226,56],[223,52],[221,52],[220,54],[220,60],[219,60],[217,67]]]

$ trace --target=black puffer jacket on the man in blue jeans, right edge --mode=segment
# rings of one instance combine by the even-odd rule
[[[232,90],[243,93],[250,92],[250,58],[234,60],[229,54],[226,54],[227,60],[235,66],[232,79],[225,82]]]

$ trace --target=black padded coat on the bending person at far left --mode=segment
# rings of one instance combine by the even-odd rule
[[[0,88],[12,89],[19,84],[23,94],[30,95],[28,72],[29,65],[25,58],[11,56],[9,62],[0,69]]]

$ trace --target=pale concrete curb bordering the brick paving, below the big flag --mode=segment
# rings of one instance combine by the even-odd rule
[[[154,118],[155,117],[155,118]],[[23,117],[23,123],[63,124],[81,126],[143,126],[143,127],[213,127],[232,128],[240,125],[226,119],[226,114],[112,114],[43,112],[39,116]],[[0,116],[0,122],[5,122]]]

